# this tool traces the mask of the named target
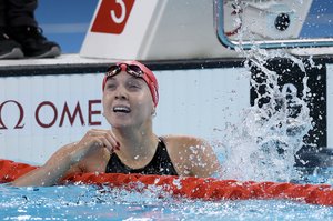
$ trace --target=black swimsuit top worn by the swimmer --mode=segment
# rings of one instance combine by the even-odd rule
[[[153,159],[140,169],[131,169],[123,164],[115,153],[110,155],[108,162],[107,173],[141,173],[141,174],[157,174],[157,175],[178,175],[171,159],[169,157],[165,143],[162,139],[159,140],[157,152]]]

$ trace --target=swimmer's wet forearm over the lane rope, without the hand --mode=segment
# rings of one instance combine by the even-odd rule
[[[68,144],[57,151],[40,168],[18,178],[11,184],[14,187],[49,187],[59,184],[67,174],[79,172],[77,161],[71,157],[74,144]]]

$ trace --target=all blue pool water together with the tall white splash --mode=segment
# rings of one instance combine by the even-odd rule
[[[276,79],[279,78],[272,78],[275,81]],[[292,118],[290,107],[283,106],[285,108],[281,111],[275,109],[284,102],[281,98],[290,94],[283,94],[274,81],[268,84],[274,86],[268,96],[275,98],[278,94],[280,100],[276,102],[276,99],[272,99],[263,108],[252,107],[245,111],[244,123],[231,127],[230,133],[226,130],[223,137],[223,141],[229,141],[224,143],[226,151],[219,148],[216,150],[223,155],[219,157],[223,162],[222,168],[225,169],[225,177],[222,179],[297,180],[299,173],[295,174],[293,168],[294,154],[304,144],[302,139],[311,129],[309,108],[304,101],[306,99],[292,97],[293,103],[303,107],[300,114]],[[265,119],[264,115],[271,115],[271,119]],[[290,129],[297,130],[291,134]],[[283,154],[276,151],[276,147],[284,150]],[[332,169],[317,169],[297,182],[332,185]],[[191,200],[169,195],[153,187],[141,192],[130,192],[94,185],[13,188],[0,184],[0,220],[322,221],[333,220],[333,207],[289,200]]]

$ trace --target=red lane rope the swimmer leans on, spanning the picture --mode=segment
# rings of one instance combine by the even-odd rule
[[[0,160],[0,183],[11,182],[36,169],[24,163]],[[174,195],[203,200],[296,200],[311,204],[333,205],[333,189],[329,184],[295,184],[287,182],[240,182],[214,178],[180,178],[175,175],[142,175],[120,173],[81,173],[69,175],[65,183],[83,183],[133,188],[133,183],[162,187]]]

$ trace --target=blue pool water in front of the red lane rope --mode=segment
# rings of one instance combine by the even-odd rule
[[[0,220],[333,220],[333,207],[289,200],[204,201],[158,188],[0,185]]]

